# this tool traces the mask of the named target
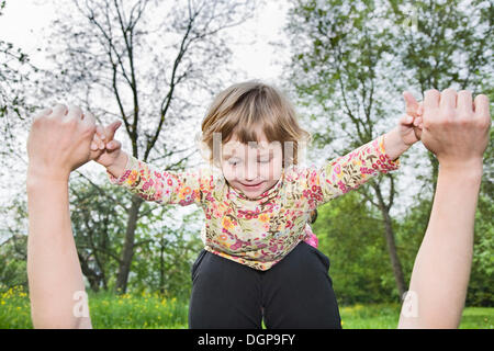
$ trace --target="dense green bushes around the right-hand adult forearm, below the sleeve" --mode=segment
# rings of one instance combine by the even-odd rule
[[[487,186],[489,182],[484,184]],[[360,196],[351,192],[319,207],[313,230],[319,239],[319,250],[330,259],[329,274],[339,304],[392,303],[396,292],[382,234],[382,219],[364,205]],[[492,204],[492,200],[481,196],[475,214],[468,306],[493,306]],[[416,205],[393,224],[397,252],[407,281],[427,228],[430,206],[430,199],[417,196]]]

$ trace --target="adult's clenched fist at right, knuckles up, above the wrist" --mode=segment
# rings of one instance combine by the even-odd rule
[[[489,143],[489,99],[467,90],[428,90],[424,98],[422,141],[441,167],[482,166]]]

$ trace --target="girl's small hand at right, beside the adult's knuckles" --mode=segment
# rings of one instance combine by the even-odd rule
[[[406,115],[400,118],[400,136],[405,145],[411,146],[422,137],[422,103],[418,103],[408,91],[403,93],[406,104]]]

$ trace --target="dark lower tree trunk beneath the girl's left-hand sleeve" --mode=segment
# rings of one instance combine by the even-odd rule
[[[125,233],[125,241],[120,261],[119,274],[116,275],[116,292],[125,294],[127,291],[128,273],[131,272],[132,259],[134,257],[135,228],[137,226],[137,216],[143,200],[137,195],[132,196],[132,206],[128,211],[128,220]]]

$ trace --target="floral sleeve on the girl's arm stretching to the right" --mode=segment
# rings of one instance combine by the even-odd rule
[[[384,135],[356,150],[327,162],[322,168],[306,169],[304,197],[315,208],[334,197],[359,188],[373,176],[400,168],[400,159],[391,160],[384,149]]]

